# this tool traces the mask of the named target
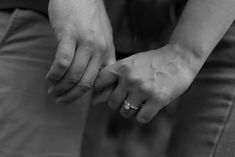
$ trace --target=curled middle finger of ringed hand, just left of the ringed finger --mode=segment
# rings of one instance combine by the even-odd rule
[[[127,91],[122,85],[122,83],[119,82],[117,87],[114,89],[114,91],[109,97],[108,106],[111,109],[118,109],[120,108],[126,97]]]

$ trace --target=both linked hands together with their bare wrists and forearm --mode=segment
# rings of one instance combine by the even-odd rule
[[[51,0],[49,16],[59,46],[47,79],[57,103],[78,99],[96,80],[94,104],[107,102],[124,117],[148,123],[191,85],[233,23],[235,1],[189,0],[167,45],[115,64],[101,0]],[[100,67],[105,68],[99,72]],[[125,110],[124,100],[140,109]]]

